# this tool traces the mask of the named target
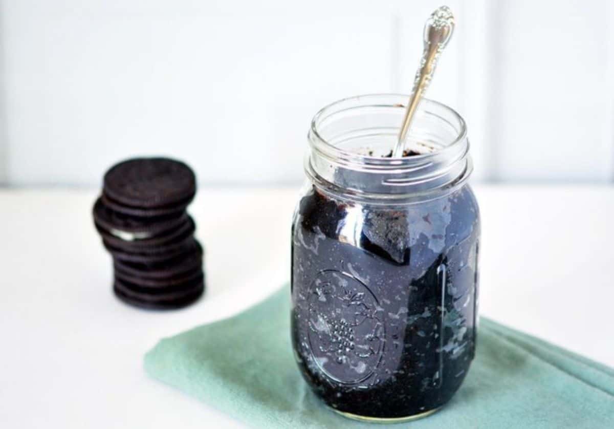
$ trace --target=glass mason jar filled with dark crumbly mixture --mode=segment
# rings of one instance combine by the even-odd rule
[[[423,100],[394,147],[408,96],[347,98],[309,130],[292,224],[292,342],[303,376],[348,417],[430,414],[475,351],[480,217],[464,120]]]

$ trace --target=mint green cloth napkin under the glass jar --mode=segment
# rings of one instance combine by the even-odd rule
[[[289,299],[283,288],[235,317],[161,340],[145,356],[146,371],[252,427],[373,427],[330,411],[301,378]],[[478,335],[452,401],[386,427],[614,428],[613,369],[485,318]]]

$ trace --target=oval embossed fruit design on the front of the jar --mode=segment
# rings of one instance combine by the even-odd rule
[[[324,270],[309,288],[308,338],[319,369],[343,384],[367,379],[384,352],[384,310],[351,274]]]

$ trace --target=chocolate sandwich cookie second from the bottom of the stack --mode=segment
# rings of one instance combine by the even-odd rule
[[[114,258],[115,273],[157,280],[177,277],[202,269],[203,249],[198,241],[195,240],[195,243],[196,246],[193,250],[161,262],[130,262]]]

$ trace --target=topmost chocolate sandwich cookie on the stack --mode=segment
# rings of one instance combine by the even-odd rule
[[[192,169],[168,158],[129,159],[104,175],[104,194],[133,208],[187,205],[195,192],[196,178]]]

